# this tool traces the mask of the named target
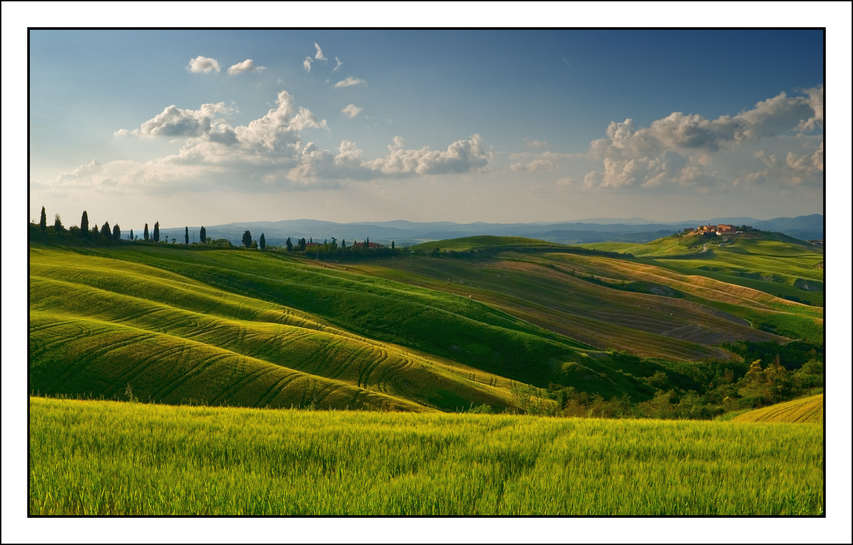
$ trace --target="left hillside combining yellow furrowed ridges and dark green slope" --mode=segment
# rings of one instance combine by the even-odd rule
[[[109,397],[130,382],[168,403],[397,410],[502,410],[514,381],[649,397],[577,341],[343,269],[260,252],[33,244],[30,387]]]

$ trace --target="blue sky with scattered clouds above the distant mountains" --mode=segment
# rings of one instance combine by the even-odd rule
[[[33,31],[30,213],[822,213],[823,72],[822,31]]]

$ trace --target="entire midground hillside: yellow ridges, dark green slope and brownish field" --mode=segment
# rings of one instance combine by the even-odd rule
[[[516,382],[637,402],[654,394],[644,377],[682,373],[667,362],[740,361],[724,341],[822,342],[821,307],[662,266],[683,260],[527,238],[450,243],[495,251],[343,265],[32,244],[30,386],[109,397],[131,382],[170,403],[502,410]]]

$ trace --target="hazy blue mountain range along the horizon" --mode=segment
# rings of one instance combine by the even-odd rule
[[[390,244],[393,240],[396,244],[406,245],[474,235],[519,236],[563,244],[584,244],[646,243],[673,232],[681,232],[686,227],[720,223],[749,225],[763,231],[784,232],[788,236],[801,240],[823,238],[823,215],[821,214],[799,215],[795,218],[779,217],[766,221],[747,217],[669,222],[655,222],[643,218],[589,218],[553,223],[541,221],[535,223],[484,223],[482,221],[422,223],[405,220],[335,223],[319,220],[283,220],[235,222],[205,226],[205,229],[208,238],[227,238],[233,244],[240,244],[243,232],[247,229],[252,232],[252,238],[255,239],[258,239],[263,232],[267,244],[284,244],[287,237],[290,237],[293,242],[302,237],[315,241],[334,237],[338,241],[345,240],[347,245],[354,241],[362,242],[365,238],[382,244]],[[140,229],[139,233],[141,232]],[[178,241],[183,242],[184,227],[162,228],[160,232],[163,237],[177,238]],[[199,227],[192,227],[189,232],[191,242],[198,240]]]

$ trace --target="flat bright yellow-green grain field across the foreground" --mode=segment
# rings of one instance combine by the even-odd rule
[[[30,399],[30,514],[820,514],[822,429]]]

